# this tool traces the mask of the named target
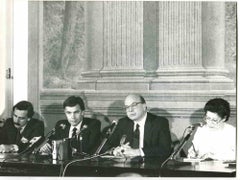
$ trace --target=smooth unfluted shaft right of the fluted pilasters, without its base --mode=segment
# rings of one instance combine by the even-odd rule
[[[203,66],[212,71],[225,70],[225,4],[206,2],[202,5]]]

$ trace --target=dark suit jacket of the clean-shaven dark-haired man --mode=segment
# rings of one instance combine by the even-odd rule
[[[87,128],[82,132],[82,150],[85,153],[93,154],[100,142],[101,123],[96,119],[83,118],[81,128],[84,125]],[[60,140],[68,138],[70,127],[68,120],[58,121],[55,126],[55,135],[51,139]]]

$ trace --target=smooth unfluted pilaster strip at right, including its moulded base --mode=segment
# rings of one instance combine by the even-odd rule
[[[225,67],[225,3],[202,3],[202,61],[212,88],[232,90],[234,81]]]

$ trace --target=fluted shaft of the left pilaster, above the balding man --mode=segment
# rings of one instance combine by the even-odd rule
[[[143,74],[143,2],[104,2],[101,74]]]

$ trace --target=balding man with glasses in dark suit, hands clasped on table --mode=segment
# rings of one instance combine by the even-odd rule
[[[124,104],[127,117],[118,121],[107,149],[114,147],[115,156],[167,158],[171,153],[168,120],[147,112],[146,102],[140,95],[128,95]]]

